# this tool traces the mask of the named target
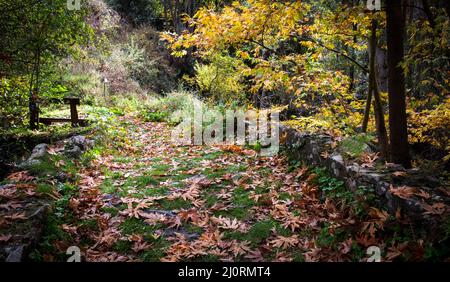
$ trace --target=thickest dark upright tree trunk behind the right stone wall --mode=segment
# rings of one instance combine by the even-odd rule
[[[405,19],[399,2],[388,0],[386,6],[390,152],[394,163],[408,168],[411,167],[411,158],[408,148],[405,75],[400,66],[404,57]]]

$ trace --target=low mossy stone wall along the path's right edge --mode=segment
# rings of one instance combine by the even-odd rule
[[[400,165],[382,169],[363,167],[355,161],[345,160],[338,150],[333,149],[333,138],[328,135],[302,133],[282,125],[280,136],[282,146],[290,157],[309,166],[327,168],[332,176],[343,180],[348,189],[353,191],[361,186],[372,188],[378,195],[379,202],[385,205],[391,214],[395,214],[398,209],[412,217],[422,217],[426,214],[421,198],[404,199],[392,193],[396,187],[401,186],[420,187],[430,194],[432,200],[448,203],[448,195],[437,193],[436,188],[441,186],[440,182],[424,175],[418,169],[407,170]]]

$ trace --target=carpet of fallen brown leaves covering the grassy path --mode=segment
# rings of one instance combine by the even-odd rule
[[[405,253],[423,259],[420,238],[385,234],[393,222],[410,228],[400,214],[367,206],[362,219],[353,206],[324,197],[317,175],[292,169],[282,155],[176,146],[165,123],[128,117],[121,127],[125,141],[80,165],[76,192],[53,211],[57,226],[39,249],[44,261],[64,259],[70,246],[81,248],[86,261],[366,261],[370,246],[386,261]],[[1,196],[13,199],[8,193]]]

